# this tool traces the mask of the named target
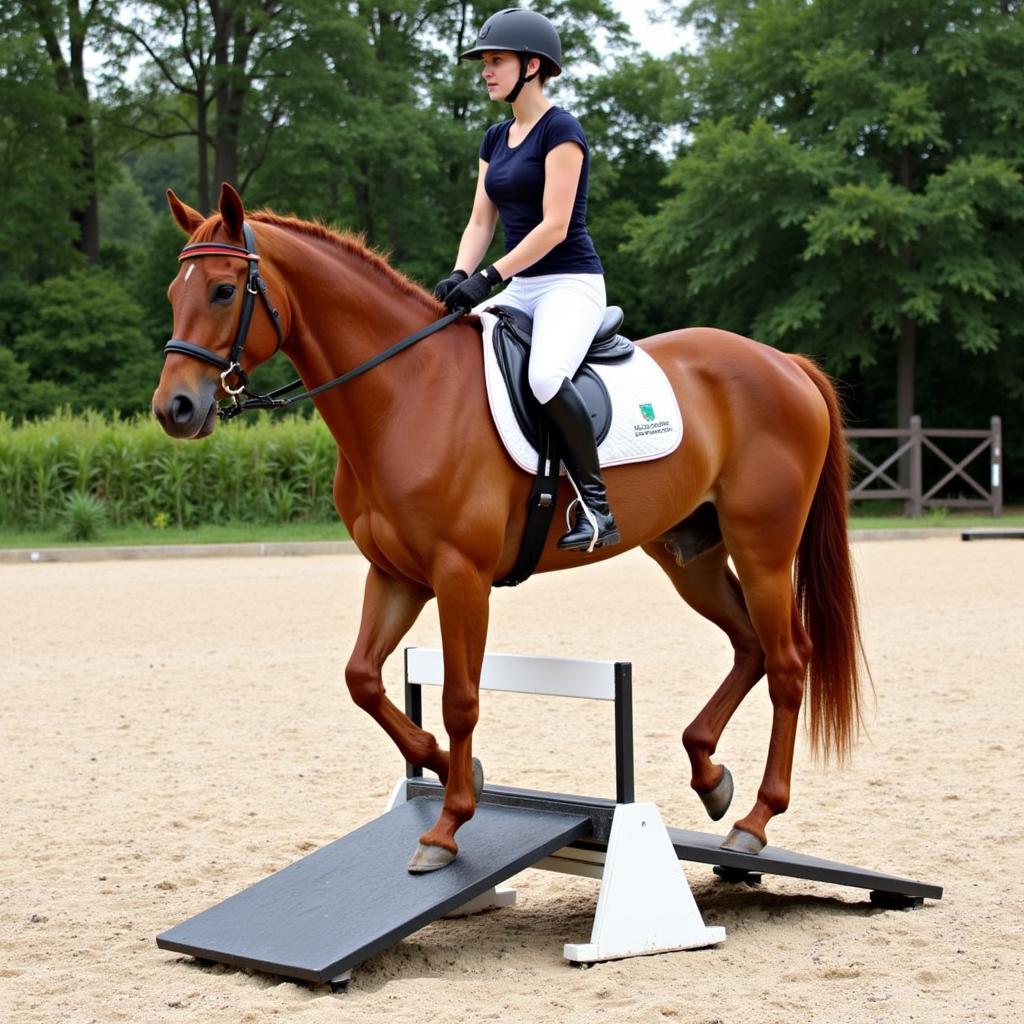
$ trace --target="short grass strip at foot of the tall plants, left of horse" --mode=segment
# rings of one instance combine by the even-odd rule
[[[143,523],[127,526],[105,526],[84,547],[138,546],[155,544],[251,544],[287,543],[302,541],[347,541],[348,531],[339,519],[337,522],[285,523],[228,523],[222,526],[198,526],[178,529],[167,526],[157,529]],[[0,548],[60,548],[69,542],[63,531],[0,529]]]

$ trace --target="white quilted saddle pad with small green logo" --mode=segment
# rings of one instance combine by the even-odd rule
[[[538,453],[515,418],[490,340],[497,317],[487,312],[478,315],[490,415],[513,462],[535,473]],[[592,362],[591,368],[611,396],[611,428],[597,450],[602,466],[660,459],[679,447],[683,439],[679,402],[665,371],[646,352],[635,348],[622,362]]]

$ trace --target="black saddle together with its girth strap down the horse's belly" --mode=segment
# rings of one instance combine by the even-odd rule
[[[515,587],[532,573],[541,559],[555,513],[561,458],[556,432],[550,429],[541,403],[529,388],[527,368],[534,332],[532,318],[522,310],[510,306],[489,306],[486,312],[497,318],[492,332],[492,343],[512,401],[512,411],[519,428],[539,456],[534,486],[526,504],[526,523],[518,557],[512,571],[495,584],[496,587]],[[594,435],[598,444],[611,428],[611,398],[604,381],[588,364],[620,362],[633,354],[633,342],[618,334],[624,318],[625,314],[618,306],[608,307],[580,370],[572,378],[572,383],[594,421]]]

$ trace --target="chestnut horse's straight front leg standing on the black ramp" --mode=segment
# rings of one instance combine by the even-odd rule
[[[451,760],[440,817],[420,837],[420,845],[409,862],[409,869],[417,873],[436,870],[455,859],[459,852],[455,834],[476,809],[473,728],[479,717],[490,580],[490,573],[481,572],[468,559],[454,554],[434,577],[444,652],[441,708]]]

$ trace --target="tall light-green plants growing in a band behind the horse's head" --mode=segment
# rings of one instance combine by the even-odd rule
[[[232,423],[194,442],[143,417],[63,410],[15,425],[0,416],[0,526],[53,528],[81,496],[115,526],[332,521],[336,462],[323,423],[298,416]]]

